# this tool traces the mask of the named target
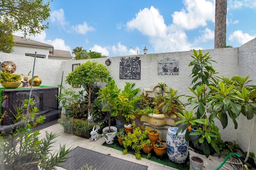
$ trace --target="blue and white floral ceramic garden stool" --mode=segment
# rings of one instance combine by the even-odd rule
[[[166,148],[168,158],[175,163],[184,163],[188,156],[188,142],[185,140],[186,130],[176,135],[178,127],[168,128],[166,135]]]

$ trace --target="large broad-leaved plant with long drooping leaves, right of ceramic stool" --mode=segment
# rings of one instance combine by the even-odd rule
[[[208,157],[212,151],[220,153],[216,143],[221,140],[220,133],[214,124],[214,119],[219,119],[223,128],[228,124],[228,116],[232,119],[234,128],[238,127],[236,118],[240,113],[252,119],[256,114],[256,104],[252,102],[256,92],[252,86],[246,85],[250,82],[249,76],[236,75],[231,79],[217,77],[215,76],[217,72],[211,66],[211,62],[215,61],[209,53],[202,54],[201,50],[199,53],[196,50],[193,52],[194,54],[191,55],[193,60],[189,66],[193,66],[192,84],[196,84],[192,88],[189,87],[193,95],[186,96],[188,103],[185,105],[193,106],[196,112],[192,115],[192,112],[185,111],[178,115],[185,119],[176,123],[176,125],[184,123],[177,133],[186,130],[187,141],[193,135],[195,145],[203,146],[202,150]]]

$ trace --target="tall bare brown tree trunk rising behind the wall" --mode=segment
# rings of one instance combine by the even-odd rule
[[[226,47],[227,0],[215,1],[214,48]]]

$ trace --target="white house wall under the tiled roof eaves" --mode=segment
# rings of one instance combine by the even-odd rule
[[[36,52],[37,55],[45,55],[46,59],[48,59],[48,55],[49,55],[49,48],[46,47],[34,47],[32,45],[30,46],[25,46],[25,45],[19,45],[16,44],[13,47],[13,54],[22,54],[25,55],[25,53],[30,53],[30,54],[34,54]]]

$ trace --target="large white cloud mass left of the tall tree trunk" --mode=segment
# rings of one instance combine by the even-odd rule
[[[193,44],[188,42],[185,29],[195,29],[199,26],[206,25],[207,20],[214,22],[215,5],[213,1],[206,0],[186,0],[186,10],[172,15],[174,19],[180,20],[167,26],[164,23],[163,16],[156,8],[151,6],[150,9],[144,8],[136,14],[136,18],[128,21],[126,26],[128,30],[137,29],[143,35],[148,36],[149,42],[154,48],[155,52],[170,52],[170,51],[188,51],[190,49],[198,49],[195,41]],[[180,18],[181,16],[184,18]],[[200,15],[200,16],[198,16]],[[192,17],[191,17],[192,16]],[[194,18],[193,18],[194,16]],[[188,22],[188,25],[185,24]],[[206,29],[202,32],[202,39],[206,42],[214,38],[213,32]],[[199,38],[198,38],[199,39]],[[114,46],[115,47],[115,46]],[[115,48],[114,48],[115,49]]]

